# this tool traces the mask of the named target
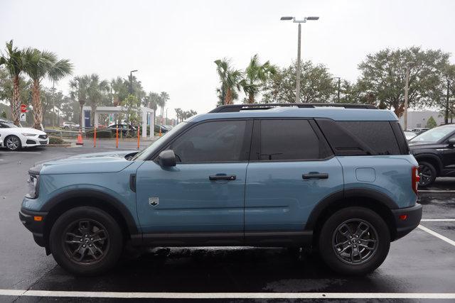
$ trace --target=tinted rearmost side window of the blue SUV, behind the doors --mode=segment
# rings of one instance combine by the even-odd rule
[[[355,138],[377,155],[400,155],[389,121],[338,121]]]

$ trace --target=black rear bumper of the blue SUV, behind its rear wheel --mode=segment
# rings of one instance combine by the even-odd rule
[[[406,236],[420,224],[422,219],[422,205],[416,203],[414,206],[405,207],[403,209],[392,209],[397,227],[395,240]],[[406,219],[403,219],[406,216]],[[401,217],[401,218],[400,218]]]

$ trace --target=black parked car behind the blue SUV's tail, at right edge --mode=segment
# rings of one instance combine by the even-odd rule
[[[411,153],[419,162],[421,187],[437,177],[455,177],[455,124],[430,129],[409,142]]]

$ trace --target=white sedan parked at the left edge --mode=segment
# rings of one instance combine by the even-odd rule
[[[9,150],[49,144],[49,137],[44,131],[38,131],[35,128],[18,127],[10,121],[2,119],[0,119],[0,135],[0,144]]]

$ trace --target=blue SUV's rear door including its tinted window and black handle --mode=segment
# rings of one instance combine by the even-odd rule
[[[313,120],[255,121],[245,192],[247,243],[299,237],[314,206],[334,192],[343,192],[341,164]]]

